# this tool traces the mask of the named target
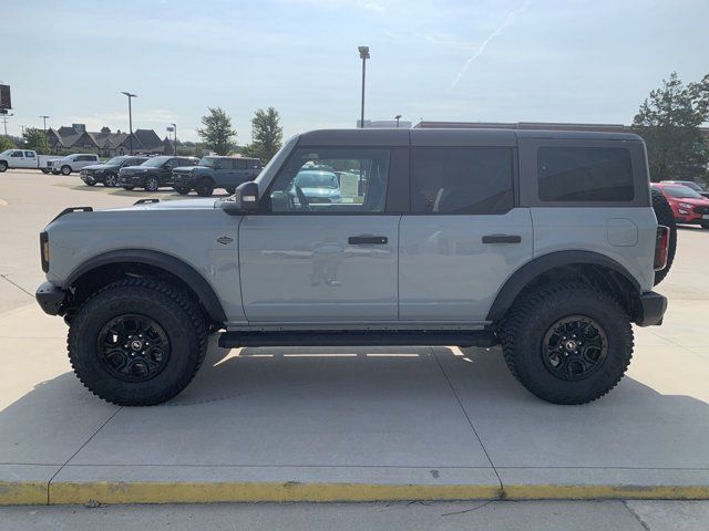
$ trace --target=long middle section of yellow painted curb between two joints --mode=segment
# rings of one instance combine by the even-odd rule
[[[497,487],[476,485],[56,482],[50,486],[49,503],[495,500],[500,496]]]

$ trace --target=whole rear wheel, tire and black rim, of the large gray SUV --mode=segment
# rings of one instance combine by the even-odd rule
[[[586,404],[613,389],[633,357],[630,319],[582,283],[521,295],[500,329],[505,362],[527,391],[554,404]]]

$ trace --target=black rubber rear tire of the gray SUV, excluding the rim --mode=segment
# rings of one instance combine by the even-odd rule
[[[571,315],[593,319],[607,337],[605,360],[583,379],[567,381],[543,361],[543,340],[549,327]],[[553,404],[586,404],[613,389],[633,357],[630,319],[607,293],[587,284],[564,282],[523,293],[497,331],[507,367],[524,387]]]

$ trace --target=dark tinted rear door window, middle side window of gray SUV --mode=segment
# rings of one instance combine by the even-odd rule
[[[511,148],[418,148],[411,162],[413,212],[500,214],[513,207]]]

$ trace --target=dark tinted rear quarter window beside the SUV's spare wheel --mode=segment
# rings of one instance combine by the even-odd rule
[[[631,201],[630,153],[610,147],[541,147],[542,201]]]

